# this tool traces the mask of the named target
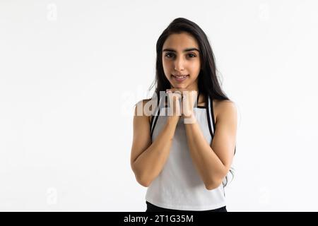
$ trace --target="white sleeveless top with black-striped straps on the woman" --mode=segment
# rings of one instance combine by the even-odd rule
[[[161,102],[160,100],[159,107],[155,111],[157,113],[151,119],[152,141],[162,131],[167,120],[166,107]],[[207,107],[194,107],[194,115],[204,138],[211,145],[216,123],[210,97]],[[167,162],[158,177],[148,186],[146,201],[161,208],[175,210],[213,210],[226,206],[223,183],[216,189],[206,189],[192,162],[182,117],[177,123]]]

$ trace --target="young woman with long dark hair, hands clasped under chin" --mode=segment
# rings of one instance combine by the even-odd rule
[[[131,169],[148,187],[146,212],[226,211],[237,112],[220,88],[208,38],[177,18],[156,51],[154,97],[137,104],[131,147]]]

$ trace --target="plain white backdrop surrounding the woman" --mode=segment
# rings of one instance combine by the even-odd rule
[[[134,104],[177,17],[239,122],[228,211],[317,211],[317,1],[0,1],[0,210],[145,211]]]

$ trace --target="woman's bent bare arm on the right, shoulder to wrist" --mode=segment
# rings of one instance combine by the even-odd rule
[[[217,121],[211,146],[199,124],[184,124],[192,160],[208,190],[220,186],[232,164],[237,128],[237,114],[232,102],[222,103]]]

